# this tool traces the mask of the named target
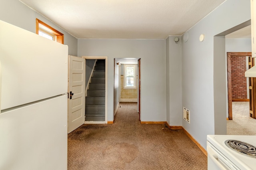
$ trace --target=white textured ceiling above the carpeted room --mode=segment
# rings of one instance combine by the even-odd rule
[[[226,0],[20,0],[76,38],[182,35]]]

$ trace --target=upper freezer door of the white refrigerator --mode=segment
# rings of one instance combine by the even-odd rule
[[[1,110],[68,91],[68,46],[0,21]]]

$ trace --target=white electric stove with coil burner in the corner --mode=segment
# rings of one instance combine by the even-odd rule
[[[207,135],[207,153],[208,170],[256,170],[256,136]]]

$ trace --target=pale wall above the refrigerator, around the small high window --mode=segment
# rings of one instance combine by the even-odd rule
[[[36,33],[36,18],[64,34],[68,54],[77,55],[77,39],[18,0],[1,0],[0,20]]]

